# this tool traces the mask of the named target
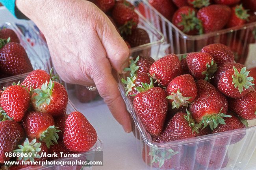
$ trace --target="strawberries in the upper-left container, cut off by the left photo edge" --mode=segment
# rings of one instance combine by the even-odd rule
[[[25,49],[11,29],[0,30],[0,78],[6,78],[33,70]]]

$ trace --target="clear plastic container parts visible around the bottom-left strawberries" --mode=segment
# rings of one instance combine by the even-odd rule
[[[13,82],[18,83],[19,81],[23,81],[26,78],[27,74],[23,74],[23,75],[17,75],[15,77],[10,77],[8,79],[5,80],[0,80],[0,88],[2,89],[2,87],[7,87],[9,85],[12,85]],[[64,83],[65,86],[65,83]],[[65,87],[67,89],[67,87]],[[69,100],[68,105],[67,105],[67,112],[66,114],[70,114],[71,112],[74,111],[79,111],[76,109],[76,107],[74,106],[74,104]],[[88,150],[88,152],[82,152],[80,153],[81,156],[79,158],[77,157],[65,157],[65,158],[59,158],[59,159],[55,159],[55,161],[76,161],[76,160],[81,160],[81,161],[86,161],[86,159],[89,159],[90,161],[94,161],[92,159],[94,159],[95,156],[95,152],[99,152],[102,151],[103,149],[103,143],[102,141],[98,138],[98,140],[96,141],[95,145]],[[100,161],[100,160],[97,160]],[[103,161],[103,160],[102,160]],[[103,162],[102,162],[103,164]],[[76,169],[81,169],[82,166],[60,166],[60,165],[47,165],[47,166],[32,166],[31,168],[22,168],[22,170],[28,170],[28,169],[44,169],[44,170],[76,170]]]

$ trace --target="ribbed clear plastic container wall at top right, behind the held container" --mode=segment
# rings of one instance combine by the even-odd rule
[[[165,37],[166,53],[184,54],[200,51],[202,47],[211,43],[223,43],[231,47],[236,61],[245,63],[250,51],[250,44],[256,43],[252,31],[256,29],[256,22],[239,27],[222,29],[202,35],[187,35],[161,15],[148,0],[130,0],[145,18],[154,25]]]

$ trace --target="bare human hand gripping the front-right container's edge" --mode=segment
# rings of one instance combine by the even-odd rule
[[[131,122],[111,73],[128,66],[129,50],[109,18],[85,0],[16,0],[45,35],[54,68],[67,83],[96,85],[126,132]]]

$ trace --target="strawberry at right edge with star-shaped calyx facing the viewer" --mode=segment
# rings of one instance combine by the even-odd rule
[[[239,98],[245,96],[250,91],[254,79],[249,77],[246,67],[229,69],[224,72],[218,82],[218,89],[230,98]]]

